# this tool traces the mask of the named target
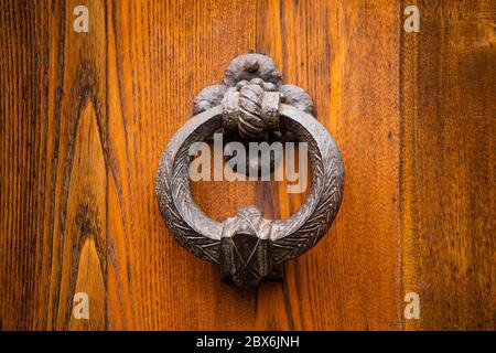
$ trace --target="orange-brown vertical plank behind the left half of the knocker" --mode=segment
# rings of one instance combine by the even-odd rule
[[[244,329],[255,297],[182,248],[155,197],[159,159],[193,99],[254,47],[254,1],[109,2],[109,329]],[[214,217],[249,203],[231,185],[195,185]],[[251,196],[255,194],[251,193]]]

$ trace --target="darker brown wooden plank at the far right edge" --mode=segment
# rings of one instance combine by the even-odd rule
[[[408,328],[496,328],[496,3],[422,1],[402,35],[401,149]]]

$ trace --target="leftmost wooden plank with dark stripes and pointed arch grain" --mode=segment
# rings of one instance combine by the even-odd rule
[[[76,282],[96,278],[87,290],[100,309],[86,327],[105,328],[105,6],[87,3],[89,35],[73,31],[77,4],[2,2],[6,329],[68,329]],[[80,276],[87,239],[100,272]]]

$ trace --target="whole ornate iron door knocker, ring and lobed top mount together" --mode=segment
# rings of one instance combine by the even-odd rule
[[[204,88],[194,117],[171,139],[157,173],[160,211],[186,249],[220,265],[224,280],[242,289],[280,278],[282,263],[314,246],[341,205],[344,167],[327,130],[314,118],[311,97],[282,85],[273,61],[262,54],[236,57],[224,83]],[[224,222],[209,218],[190,191],[190,146],[216,131],[241,141],[294,139],[308,142],[313,181],[305,203],[288,220],[266,220],[247,206]]]

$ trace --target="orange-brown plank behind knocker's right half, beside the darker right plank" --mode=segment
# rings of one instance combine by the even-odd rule
[[[270,1],[259,13],[257,49],[313,97],[345,193],[327,236],[260,290],[258,328],[401,329],[398,2]],[[277,215],[301,202],[263,197]]]

